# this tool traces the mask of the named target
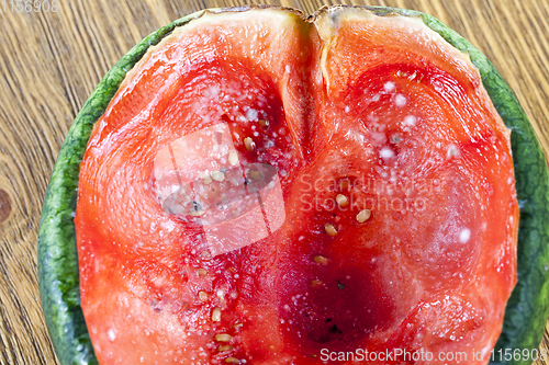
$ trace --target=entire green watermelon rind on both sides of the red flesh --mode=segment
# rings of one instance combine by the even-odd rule
[[[261,7],[262,8],[262,7]],[[412,10],[362,7],[384,16],[419,18],[457,49],[469,54],[497,113],[512,130],[511,142],[516,191],[520,207],[518,231],[518,283],[505,310],[493,365],[526,365],[525,356],[500,361],[509,349],[538,349],[549,316],[549,173],[535,132],[515,94],[488,58],[436,18]],[[233,10],[245,10],[238,8]],[[231,10],[231,9],[227,9]],[[150,46],[178,27],[200,18],[203,11],[179,19],[154,32],[132,48],[105,75],[78,113],[61,146],[44,198],[38,229],[38,280],[46,326],[61,365],[98,364],[82,309],[74,215],[80,162],[94,123],[103,115],[126,73]]]

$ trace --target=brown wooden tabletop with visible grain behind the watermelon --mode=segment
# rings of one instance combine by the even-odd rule
[[[0,192],[5,193],[0,194],[1,364],[57,363],[40,305],[36,232],[55,158],[78,110],[107,70],[145,35],[203,8],[243,3],[60,0],[55,13],[18,13],[9,3],[4,12],[0,0]],[[311,13],[335,1],[271,3]],[[433,14],[470,39],[517,94],[547,156],[547,0],[372,0],[369,4]],[[546,332],[541,346],[548,345]]]

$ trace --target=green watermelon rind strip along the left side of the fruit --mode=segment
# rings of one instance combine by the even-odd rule
[[[61,365],[98,364],[80,307],[78,251],[74,214],[80,162],[94,123],[105,112],[126,73],[177,26],[203,11],[181,18],[145,37],[100,81],[69,128],[46,190],[38,228],[38,283],[42,308]]]

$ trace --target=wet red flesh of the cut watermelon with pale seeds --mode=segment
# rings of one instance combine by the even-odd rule
[[[262,9],[177,28],[81,163],[99,362],[486,364],[473,353],[516,275],[508,137],[468,57],[421,20]],[[238,189],[259,203],[235,208]]]

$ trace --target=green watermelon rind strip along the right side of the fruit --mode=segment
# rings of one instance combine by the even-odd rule
[[[528,357],[539,347],[549,316],[549,173],[546,157],[517,98],[486,56],[436,18],[421,16],[453,47],[469,54],[492,103],[511,129],[515,189],[520,209],[517,284],[505,308],[502,333],[491,364],[531,364]],[[525,350],[530,356],[524,355]]]

